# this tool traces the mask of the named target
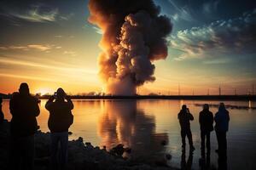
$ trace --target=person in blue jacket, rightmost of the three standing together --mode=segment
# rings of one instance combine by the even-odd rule
[[[227,139],[226,133],[229,130],[230,116],[229,111],[225,109],[224,103],[220,103],[218,112],[214,116],[215,132],[218,140],[218,154],[226,153]]]

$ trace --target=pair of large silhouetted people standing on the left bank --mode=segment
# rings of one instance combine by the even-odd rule
[[[67,101],[65,101],[65,99]],[[49,131],[51,139],[51,167],[65,169],[67,164],[68,128],[73,124],[73,103],[62,88],[47,101],[45,108],[49,111]],[[12,115],[10,122],[10,167],[12,170],[31,170],[34,162],[34,134],[38,130],[36,117],[40,110],[38,99],[33,97],[28,85],[20,84],[19,92],[15,92],[9,101]],[[1,114],[2,115],[2,114]],[[58,146],[61,153],[58,155]]]

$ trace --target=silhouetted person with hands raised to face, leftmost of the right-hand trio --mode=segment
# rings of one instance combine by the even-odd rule
[[[182,110],[178,113],[177,118],[181,127],[181,137],[183,142],[183,150],[186,147],[186,136],[189,139],[190,150],[195,150],[192,140],[192,133],[190,130],[190,121],[194,120],[194,116],[189,112],[189,109],[186,105],[182,106]]]

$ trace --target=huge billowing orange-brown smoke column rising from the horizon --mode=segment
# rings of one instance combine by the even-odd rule
[[[156,59],[166,59],[171,21],[152,0],[90,0],[89,21],[102,29],[100,77],[106,93],[136,94],[154,81]]]

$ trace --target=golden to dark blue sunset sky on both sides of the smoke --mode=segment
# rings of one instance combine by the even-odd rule
[[[168,57],[154,62],[155,82],[140,94],[247,94],[256,84],[253,1],[154,0],[172,20]],[[101,92],[102,31],[89,23],[88,0],[0,2],[0,93],[28,82],[31,92]],[[254,3],[255,4],[255,3]],[[256,86],[255,86],[256,87]]]

